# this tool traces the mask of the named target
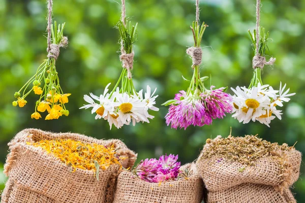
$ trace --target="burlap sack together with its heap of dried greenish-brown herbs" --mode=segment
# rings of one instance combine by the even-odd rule
[[[196,165],[209,191],[209,199],[211,195],[224,192],[223,197],[227,194],[229,196],[226,198],[233,198],[234,202],[247,202],[229,191],[234,191],[232,188],[238,186],[236,191],[242,190],[247,196],[255,196],[257,193],[254,189],[248,190],[246,186],[243,188],[241,185],[251,183],[251,186],[255,185],[255,187],[261,185],[266,197],[280,194],[281,198],[287,199],[287,202],[293,202],[289,187],[299,177],[300,163],[301,153],[294,147],[288,147],[287,144],[278,145],[255,136],[245,138],[229,136],[225,139],[221,137],[208,139]],[[211,202],[226,201],[218,199]],[[269,202],[277,201],[269,199]]]

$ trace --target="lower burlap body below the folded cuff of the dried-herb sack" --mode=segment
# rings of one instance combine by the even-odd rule
[[[290,190],[284,193],[270,185],[243,183],[221,191],[208,192],[209,203],[294,203]]]

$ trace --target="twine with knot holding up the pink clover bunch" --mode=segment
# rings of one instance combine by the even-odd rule
[[[199,13],[200,13],[199,1],[200,0],[196,0],[196,22],[197,22],[197,24],[199,24]],[[191,58],[193,60],[193,64],[192,64],[193,69],[194,69],[195,65],[201,64],[201,59],[202,59],[201,47],[196,47],[196,46],[190,47],[187,49],[187,54],[189,56],[191,56]]]

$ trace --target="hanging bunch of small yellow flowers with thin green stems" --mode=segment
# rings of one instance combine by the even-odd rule
[[[38,67],[36,74],[14,94],[17,99],[13,101],[14,107],[24,107],[27,103],[25,97],[32,91],[40,95],[40,98],[36,102],[35,112],[31,115],[31,118],[39,119],[41,118],[39,112],[45,111],[48,112],[45,117],[46,120],[58,119],[62,115],[69,115],[65,104],[68,103],[68,96],[71,94],[65,94],[60,87],[58,73],[55,67],[59,47],[66,47],[68,45],[68,38],[63,35],[64,27],[65,23],[57,26],[56,21],[51,26],[52,45],[51,50],[49,50],[48,59]],[[52,53],[52,50],[54,53]],[[41,85],[42,83],[44,83],[43,86]]]

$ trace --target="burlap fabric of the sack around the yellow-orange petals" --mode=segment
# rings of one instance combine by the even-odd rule
[[[114,146],[120,157],[121,166],[132,167],[136,160],[134,152],[119,140],[98,140],[77,133],[51,133],[38,129],[25,129],[9,143],[10,153],[4,166],[9,182],[2,194],[3,203],[7,202],[65,202],[100,203],[112,202],[118,164],[107,170],[99,170],[99,180],[94,171],[66,165],[42,148],[26,144],[40,140],[70,139],[83,143],[96,143],[106,147]],[[28,191],[27,191],[28,190]],[[23,200],[22,200],[23,199]],[[40,201],[37,201],[40,199]]]

